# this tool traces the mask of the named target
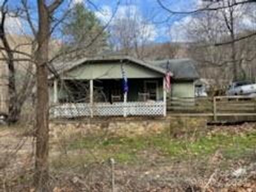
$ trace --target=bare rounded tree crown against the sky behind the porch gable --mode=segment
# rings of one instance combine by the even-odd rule
[[[154,25],[141,17],[138,10],[127,5],[121,17],[114,20],[110,41],[116,51],[143,59],[145,49],[155,37]]]

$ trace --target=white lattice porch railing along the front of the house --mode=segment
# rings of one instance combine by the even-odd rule
[[[110,103],[64,103],[50,109],[53,118],[83,116],[162,116],[165,114],[163,101],[114,102]]]

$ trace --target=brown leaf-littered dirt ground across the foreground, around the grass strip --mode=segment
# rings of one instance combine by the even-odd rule
[[[241,135],[255,131],[255,124],[209,127],[209,133]],[[182,138],[182,135],[180,136]],[[254,139],[254,138],[253,138]],[[251,143],[253,143],[254,140]],[[255,140],[256,146],[256,140]],[[222,151],[199,158],[166,158],[154,148],[134,151],[142,161],[110,163],[110,159],[74,157],[96,150],[62,150],[63,140],[51,141],[50,187],[60,191],[256,191],[256,151],[234,159]],[[101,147],[101,146],[100,146]],[[117,150],[117,149],[116,149]],[[26,131],[0,128],[0,191],[34,191],[34,138]],[[52,164],[51,159],[71,159],[69,164]],[[79,156],[80,157],[80,156]],[[124,157],[123,157],[124,158]],[[79,160],[79,161],[78,161]],[[59,161],[62,162],[62,161]],[[65,163],[65,161],[63,161]],[[63,163],[62,162],[62,163]]]

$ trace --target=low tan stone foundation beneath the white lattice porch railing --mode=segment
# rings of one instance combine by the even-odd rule
[[[138,135],[166,134],[174,137],[183,132],[205,130],[206,118],[171,117],[159,119],[85,119],[84,121],[53,121],[50,124],[50,135],[53,138],[72,137],[72,135],[108,134],[119,137]]]

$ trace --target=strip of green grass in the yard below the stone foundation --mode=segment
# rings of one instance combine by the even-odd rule
[[[150,158],[150,154],[153,151],[159,157],[179,161],[186,161],[191,157],[195,159],[207,158],[217,150],[220,150],[226,159],[239,159],[248,153],[255,153],[255,146],[255,131],[246,135],[230,135],[225,132],[214,135],[201,135],[196,139],[194,138],[194,140],[191,138],[173,139],[164,133],[152,135],[151,137],[110,137],[105,139],[94,135],[93,137],[75,139],[69,142],[67,146],[68,151],[71,153],[72,151],[82,150],[90,150],[91,153],[86,153],[86,155],[78,153],[78,156],[72,155],[64,158],[62,163],[75,166],[114,158],[121,164],[138,164],[149,161],[148,158]],[[148,155],[141,156],[141,154]],[[55,160],[58,162],[59,158]],[[55,167],[58,167],[58,165],[55,165]]]

